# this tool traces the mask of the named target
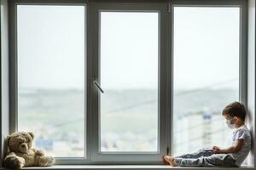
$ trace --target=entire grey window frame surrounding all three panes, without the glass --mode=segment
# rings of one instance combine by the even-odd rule
[[[16,5],[86,5],[85,11],[85,158],[56,158],[56,164],[162,164],[162,156],[172,153],[172,92],[173,92],[173,8],[175,6],[240,7],[240,94],[247,105],[247,1],[246,0],[9,0],[9,133],[17,130],[17,50]],[[99,93],[93,81],[99,75],[99,11],[158,11],[160,16],[159,58],[159,153],[100,153]]]

